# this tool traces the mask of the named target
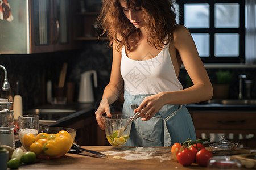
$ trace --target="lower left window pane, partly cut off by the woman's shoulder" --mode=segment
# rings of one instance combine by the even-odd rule
[[[200,57],[210,56],[210,35],[209,33],[191,33]]]

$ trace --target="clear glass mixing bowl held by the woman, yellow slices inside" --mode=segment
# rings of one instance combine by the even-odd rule
[[[105,134],[109,143],[113,146],[124,145],[130,135],[131,123],[123,131],[121,136],[119,136],[119,131],[125,127],[130,117],[123,114],[114,114],[112,117],[102,116],[102,118],[105,122]]]

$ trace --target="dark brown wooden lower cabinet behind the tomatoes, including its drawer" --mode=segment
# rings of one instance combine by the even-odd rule
[[[243,147],[256,147],[256,112],[255,111],[189,111],[195,125],[196,137],[202,133],[222,133],[233,142],[243,144]],[[246,135],[253,134],[250,139]],[[243,139],[241,139],[241,136]]]

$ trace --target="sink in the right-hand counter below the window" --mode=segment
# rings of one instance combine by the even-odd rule
[[[224,104],[224,105],[256,105],[255,99],[220,99],[208,100],[208,104]]]

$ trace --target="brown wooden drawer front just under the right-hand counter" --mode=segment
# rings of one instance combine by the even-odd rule
[[[195,129],[255,130],[256,112],[192,112]]]

